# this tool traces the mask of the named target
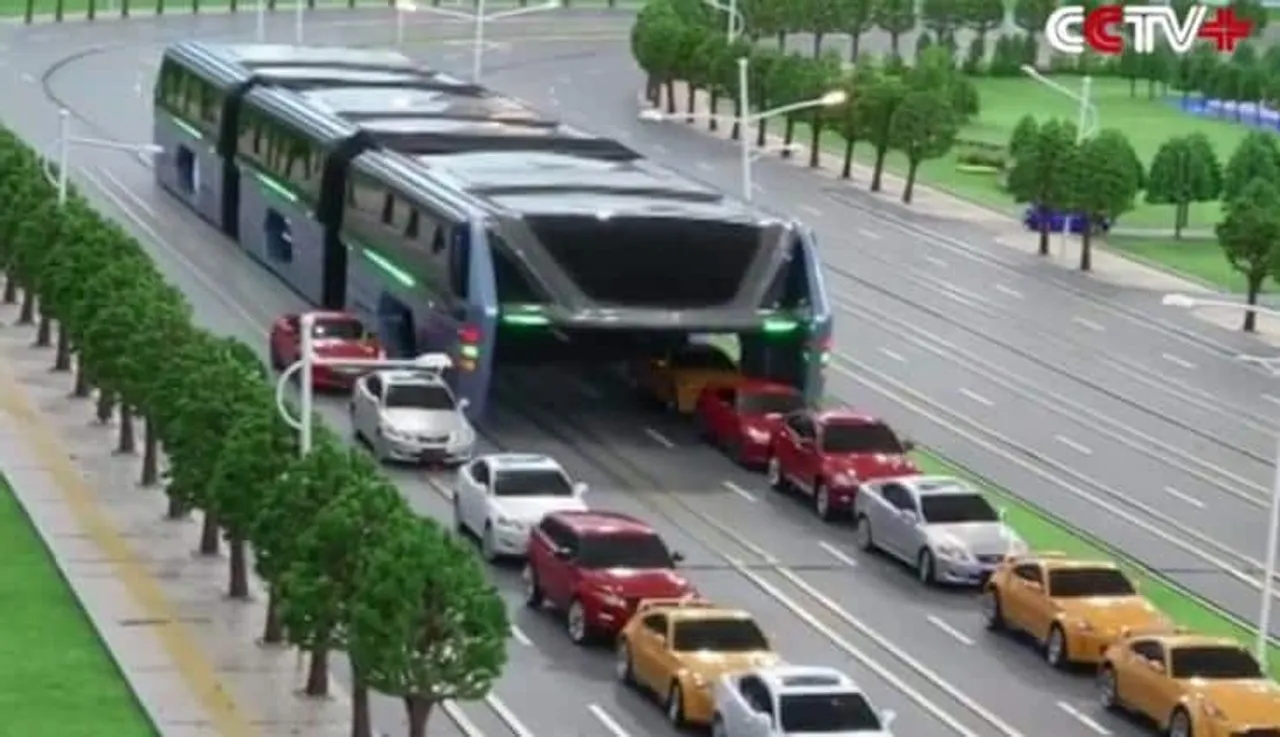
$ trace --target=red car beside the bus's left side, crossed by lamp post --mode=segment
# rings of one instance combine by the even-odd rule
[[[380,358],[384,356],[378,338],[356,317],[346,312],[310,312],[315,316],[311,335],[316,356],[325,358]],[[271,325],[271,367],[283,371],[292,366],[301,352],[301,316],[285,315]],[[367,368],[338,368],[316,366],[311,372],[315,386],[321,389],[351,389]]]

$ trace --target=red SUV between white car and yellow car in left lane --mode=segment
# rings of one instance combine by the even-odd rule
[[[696,596],[681,560],[644,522],[617,512],[553,512],[529,536],[526,604],[564,612],[568,637],[613,637],[643,599]]]

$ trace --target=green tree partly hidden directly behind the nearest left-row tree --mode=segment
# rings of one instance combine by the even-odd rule
[[[361,549],[376,545],[394,517],[412,514],[372,463],[362,450],[349,450],[326,467],[337,494],[297,531],[278,581],[285,637],[311,656],[308,696],[328,695],[329,654],[346,647]]]

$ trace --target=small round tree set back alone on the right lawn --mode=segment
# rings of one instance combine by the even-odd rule
[[[1192,202],[1212,202],[1222,191],[1222,169],[1202,133],[1160,145],[1147,175],[1147,202],[1174,206],[1174,238],[1181,239]]]

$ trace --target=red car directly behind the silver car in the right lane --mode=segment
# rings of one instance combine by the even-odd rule
[[[920,470],[908,458],[915,447],[876,417],[849,411],[801,411],[773,432],[769,484],[813,499],[823,519],[847,514],[864,481],[911,476]]]

